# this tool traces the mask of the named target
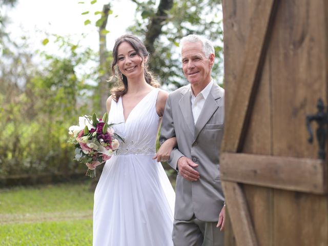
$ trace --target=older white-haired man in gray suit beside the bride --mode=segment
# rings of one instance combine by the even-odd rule
[[[211,77],[214,47],[201,36],[180,42],[182,70],[189,85],[171,93],[160,142],[176,137],[169,164],[178,171],[173,242],[176,246],[223,245],[224,195],[219,154],[224,90]]]

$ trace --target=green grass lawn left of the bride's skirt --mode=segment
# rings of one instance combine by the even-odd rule
[[[89,181],[0,190],[0,242],[9,245],[91,245]]]

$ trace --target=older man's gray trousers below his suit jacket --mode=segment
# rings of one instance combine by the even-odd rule
[[[216,228],[217,222],[196,219],[174,219],[172,239],[174,246],[223,246],[223,232]]]

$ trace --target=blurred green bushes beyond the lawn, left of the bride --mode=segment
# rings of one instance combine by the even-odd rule
[[[77,52],[78,46],[68,39],[54,37],[66,57],[46,53],[34,57],[28,49],[15,46],[4,49],[0,60],[2,175],[79,169],[73,161],[74,149],[67,144],[68,127],[76,125],[80,114],[97,109],[95,86],[85,83],[95,72],[76,73],[94,59],[94,52]],[[43,66],[36,66],[33,58],[42,60]]]

